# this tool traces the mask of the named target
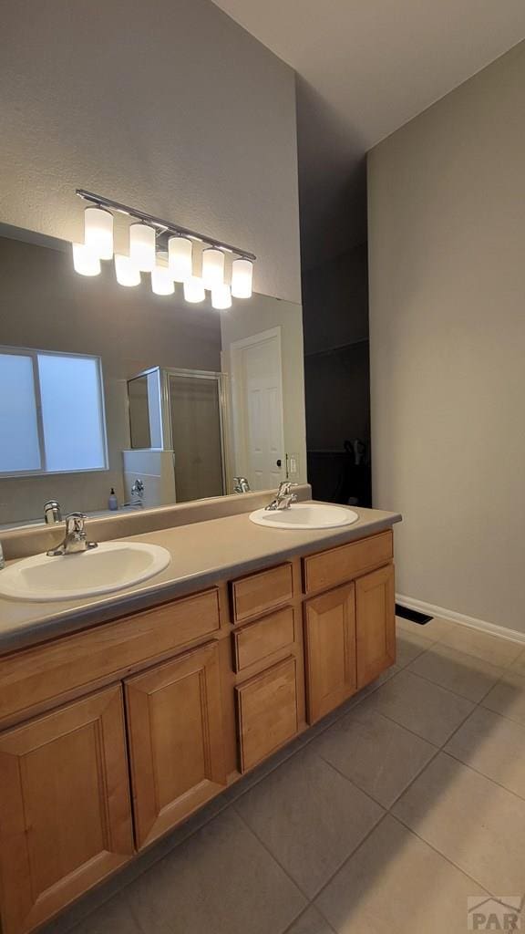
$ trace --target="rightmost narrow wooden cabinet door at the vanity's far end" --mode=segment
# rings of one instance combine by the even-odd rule
[[[393,564],[356,581],[357,679],[368,685],[395,661]]]

